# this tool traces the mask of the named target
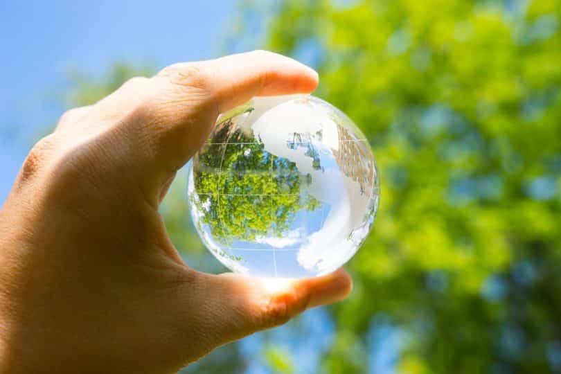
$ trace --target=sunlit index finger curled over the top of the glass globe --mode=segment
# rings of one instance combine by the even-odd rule
[[[152,80],[157,94],[128,122],[150,147],[143,150],[150,159],[136,161],[143,172],[156,173],[152,180],[163,181],[202,147],[218,114],[253,96],[309,93],[317,87],[318,75],[292,58],[254,51],[175,64]]]

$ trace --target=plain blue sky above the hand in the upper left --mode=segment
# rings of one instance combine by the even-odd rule
[[[61,114],[53,92],[69,71],[217,57],[234,10],[235,0],[1,1],[0,204],[38,129]]]

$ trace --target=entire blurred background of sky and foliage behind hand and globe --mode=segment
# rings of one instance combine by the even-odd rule
[[[561,373],[560,22],[558,0],[2,1],[0,202],[64,109],[173,62],[291,55],[377,157],[355,290],[185,372]],[[224,271],[185,171],[161,213]]]

